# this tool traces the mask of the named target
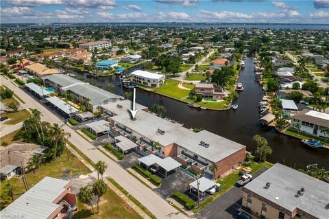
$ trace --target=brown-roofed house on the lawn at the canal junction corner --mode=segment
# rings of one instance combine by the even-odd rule
[[[202,95],[204,98],[212,98],[215,100],[222,100],[223,97],[226,95],[223,92],[223,89],[217,89],[214,87],[213,84],[206,84],[206,83],[197,83],[194,87],[195,94]]]

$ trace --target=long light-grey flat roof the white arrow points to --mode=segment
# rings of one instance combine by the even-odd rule
[[[111,119],[152,141],[159,142],[162,146],[176,143],[178,146],[215,163],[245,148],[240,143],[215,135],[212,132],[202,130],[196,133],[145,111],[138,111],[135,120],[130,118],[129,113],[113,116]],[[164,134],[160,134],[158,129],[164,131]],[[208,143],[208,147],[202,145],[201,141]]]

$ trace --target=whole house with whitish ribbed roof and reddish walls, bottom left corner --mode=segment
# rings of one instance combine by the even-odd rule
[[[0,212],[1,218],[72,218],[77,212],[77,198],[72,184],[46,176]]]

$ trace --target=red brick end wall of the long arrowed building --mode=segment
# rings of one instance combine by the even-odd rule
[[[224,173],[228,172],[233,168],[234,165],[238,165],[245,159],[245,148],[231,154],[230,156],[218,161],[217,164],[217,171],[215,172],[215,178],[223,175]]]

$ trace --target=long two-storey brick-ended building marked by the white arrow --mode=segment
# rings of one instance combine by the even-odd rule
[[[109,108],[118,108],[118,103],[102,105]],[[143,157],[154,154],[160,158],[172,157],[178,162],[188,166],[191,170],[202,175],[212,177],[214,173],[209,170],[210,165],[216,163],[218,169],[215,178],[232,170],[245,159],[245,146],[215,135],[212,132],[202,130],[193,132],[188,128],[173,124],[144,110],[139,110],[135,119],[131,119],[127,109],[130,104],[121,105],[114,113],[107,115],[111,131],[114,135],[122,135],[127,138],[136,139],[136,152]],[[136,106],[144,109],[145,106]],[[160,147],[154,147],[154,143]]]

